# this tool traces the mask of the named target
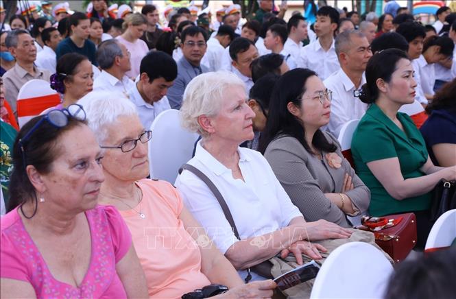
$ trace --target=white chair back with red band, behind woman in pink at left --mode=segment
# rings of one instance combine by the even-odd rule
[[[17,117],[19,127],[40,115],[47,108],[60,104],[60,95],[54,91],[49,82],[40,79],[25,83],[17,95]]]

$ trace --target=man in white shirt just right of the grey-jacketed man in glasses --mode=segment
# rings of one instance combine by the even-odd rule
[[[206,53],[201,61],[209,71],[219,71],[221,69],[221,57],[224,50],[230,45],[231,40],[235,39],[234,30],[228,25],[221,25],[217,34],[207,41]]]

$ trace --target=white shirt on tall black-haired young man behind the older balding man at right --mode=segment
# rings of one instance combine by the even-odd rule
[[[297,61],[298,67],[311,69],[317,73],[321,80],[325,80],[329,75],[340,69],[339,60],[334,47],[334,40],[328,51],[324,51],[320,40],[301,49],[300,58]]]

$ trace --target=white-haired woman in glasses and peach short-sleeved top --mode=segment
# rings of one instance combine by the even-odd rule
[[[146,179],[147,142],[152,132],[141,125],[136,106],[116,93],[97,91],[80,104],[106,150],[99,202],[115,206],[130,228],[149,297],[180,298],[211,283],[229,288],[220,298],[272,296],[276,287],[272,280],[243,284],[171,184]]]

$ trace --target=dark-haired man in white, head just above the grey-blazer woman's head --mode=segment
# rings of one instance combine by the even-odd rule
[[[284,57],[289,69],[296,69],[296,61],[291,53],[284,49],[283,45],[288,38],[287,27],[285,25],[274,24],[267,29],[265,36],[265,47],[272,53],[280,54]]]

